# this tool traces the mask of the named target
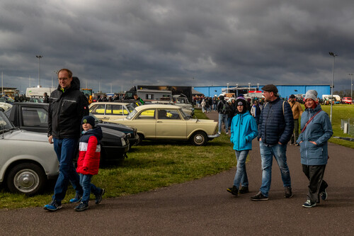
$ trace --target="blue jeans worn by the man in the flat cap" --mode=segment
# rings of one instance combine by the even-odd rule
[[[262,141],[259,142],[262,159],[262,186],[261,193],[268,197],[270,183],[272,181],[272,164],[273,156],[278,162],[280,173],[282,175],[282,184],[284,187],[291,187],[291,179],[289,167],[287,167],[287,145],[265,145]]]

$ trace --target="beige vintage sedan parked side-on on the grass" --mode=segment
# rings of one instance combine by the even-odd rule
[[[205,145],[219,137],[214,120],[192,119],[181,107],[162,104],[137,106],[126,118],[109,120],[137,128],[141,140],[190,140]]]

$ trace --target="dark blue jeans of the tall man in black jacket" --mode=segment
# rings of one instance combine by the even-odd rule
[[[67,193],[69,181],[72,183],[76,194],[81,196],[83,191],[80,186],[79,174],[76,173],[72,159],[77,147],[76,138],[53,138],[54,150],[59,161],[59,176],[54,188],[52,199],[61,203]]]

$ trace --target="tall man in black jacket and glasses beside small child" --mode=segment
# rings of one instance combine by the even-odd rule
[[[81,133],[81,119],[89,115],[89,102],[80,91],[79,79],[72,77],[69,69],[60,69],[58,80],[58,88],[50,94],[48,111],[48,141],[54,143],[59,160],[59,176],[52,202],[44,206],[45,210],[52,211],[62,208],[62,200],[69,181],[76,191],[75,198],[70,202],[76,203],[81,200],[83,191],[72,159]]]

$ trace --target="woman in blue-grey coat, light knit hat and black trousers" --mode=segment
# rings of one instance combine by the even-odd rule
[[[326,200],[324,169],[328,160],[327,141],[333,135],[329,115],[322,111],[316,102],[317,92],[309,90],[305,95],[305,111],[301,116],[301,134],[297,143],[300,145],[302,172],[309,179],[309,193],[304,208],[312,208],[320,198]]]

